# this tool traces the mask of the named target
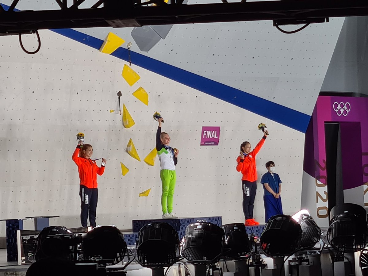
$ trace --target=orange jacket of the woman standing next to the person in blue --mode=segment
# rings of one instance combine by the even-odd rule
[[[255,146],[253,151],[244,156],[244,159],[241,159],[240,156],[238,156],[238,158],[236,159],[237,162],[236,170],[241,171],[241,173],[243,174],[241,180],[247,180],[250,182],[257,180],[257,168],[255,164],[255,156],[262,148],[262,145],[264,144],[265,140],[266,136],[263,136],[261,141],[259,141],[258,144]]]

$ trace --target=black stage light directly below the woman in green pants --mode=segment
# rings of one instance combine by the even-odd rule
[[[163,275],[164,266],[170,266],[179,260],[179,236],[168,223],[152,222],[139,230],[137,261],[152,269],[152,275]]]

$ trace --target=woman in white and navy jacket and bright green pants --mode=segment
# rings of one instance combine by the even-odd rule
[[[160,159],[160,178],[162,183],[162,218],[171,219],[177,216],[173,213],[173,198],[176,182],[175,166],[178,162],[179,150],[171,148],[170,136],[166,132],[161,132],[162,118],[158,119],[159,127],[156,132],[156,149]]]

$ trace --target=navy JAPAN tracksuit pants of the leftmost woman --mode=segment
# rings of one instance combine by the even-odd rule
[[[98,199],[97,188],[87,188],[84,185],[80,185],[79,196],[81,197],[82,227],[87,226],[88,217],[89,217],[90,226],[96,227],[96,209],[97,209],[97,199]]]

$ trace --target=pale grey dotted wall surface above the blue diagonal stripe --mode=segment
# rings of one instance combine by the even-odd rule
[[[188,4],[219,2],[190,0]],[[94,3],[88,0],[80,7]],[[59,7],[55,1],[20,1],[17,8]],[[272,21],[173,25],[149,52],[135,45],[133,28],[77,30],[102,40],[113,32],[131,41],[134,52],[311,115],[343,21],[343,17],[330,18],[329,23],[311,24],[295,34],[278,31]],[[283,28],[291,31],[297,26]]]

